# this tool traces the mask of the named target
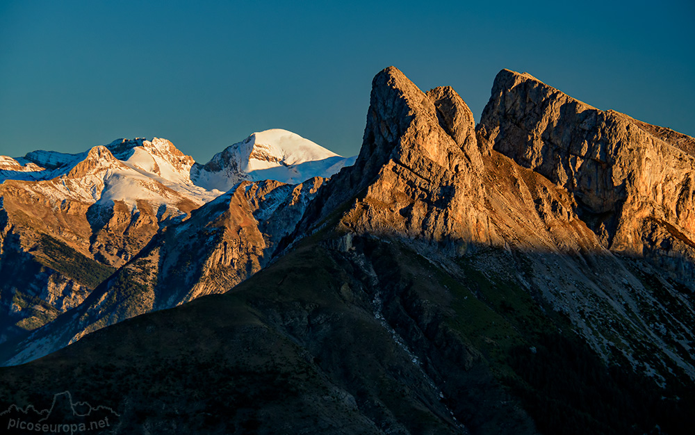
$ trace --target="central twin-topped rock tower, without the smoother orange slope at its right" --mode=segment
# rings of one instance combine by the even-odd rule
[[[473,240],[489,243],[473,125],[452,88],[426,94],[395,67],[382,70],[373,79],[357,161],[329,181],[316,202],[322,209],[312,213],[328,215],[354,201],[342,223],[356,233],[447,240],[442,245],[451,242],[452,251]],[[306,222],[321,220],[308,216]]]

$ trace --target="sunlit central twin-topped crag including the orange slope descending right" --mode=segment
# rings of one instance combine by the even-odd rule
[[[375,76],[357,162],[316,203],[328,215],[355,195],[341,220],[350,231],[429,240],[450,254],[481,246],[557,249],[560,239],[574,252],[601,249],[566,191],[482,150],[473,114],[452,88],[425,94],[395,67]]]

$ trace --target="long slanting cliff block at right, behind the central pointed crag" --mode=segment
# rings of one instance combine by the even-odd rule
[[[572,192],[606,247],[674,258],[673,272],[692,277],[685,263],[695,259],[693,138],[598,110],[507,69],[495,79],[478,133]]]

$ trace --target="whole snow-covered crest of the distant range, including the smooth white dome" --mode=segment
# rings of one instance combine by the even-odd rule
[[[46,181],[35,188],[55,190],[51,197],[56,200],[199,206],[240,181],[297,184],[331,177],[352,163],[354,158],[343,158],[291,131],[271,129],[227,147],[206,165],[162,138],[117,139],[79,154],[32,151],[19,158],[0,156],[0,183]]]

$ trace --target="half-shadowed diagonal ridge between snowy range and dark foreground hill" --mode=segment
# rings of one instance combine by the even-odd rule
[[[127,318],[229,290],[270,262],[322,182],[238,184],[163,229],[79,306],[0,345],[0,357],[31,361]]]

